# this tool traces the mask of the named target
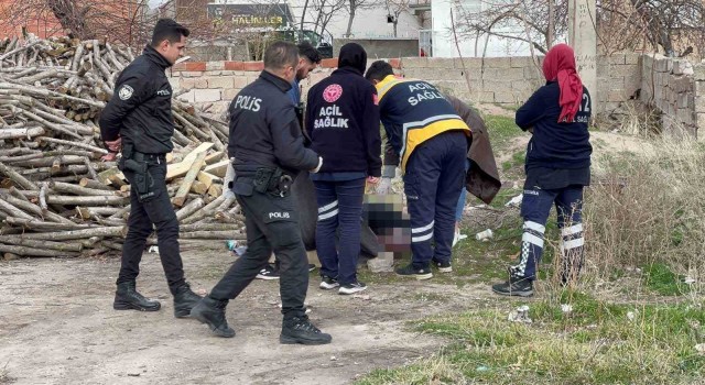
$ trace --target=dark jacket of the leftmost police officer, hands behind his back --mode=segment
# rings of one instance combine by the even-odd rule
[[[115,95],[100,113],[104,141],[122,138],[122,144],[147,154],[169,153],[174,147],[172,87],[164,70],[171,64],[147,46],[118,77]]]

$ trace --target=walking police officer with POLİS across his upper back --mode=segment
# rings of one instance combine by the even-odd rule
[[[245,213],[248,249],[191,311],[219,337],[235,336],[225,308],[254,279],[273,251],[280,261],[284,315],[280,342],[323,344],[332,340],[308,321],[305,312],[308,262],[289,194],[300,170],[316,173],[323,164],[315,152],[304,147],[294,106],[286,96],[297,62],[295,45],[270,45],[260,77],[230,103],[228,155],[235,158],[232,190]]]

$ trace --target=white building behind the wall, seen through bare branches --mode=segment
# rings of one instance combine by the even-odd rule
[[[490,0],[491,1],[491,0]],[[511,40],[487,35],[479,38],[463,37],[458,33],[456,45],[451,23],[451,11],[453,20],[458,23],[465,13],[479,12],[486,7],[487,0],[431,0],[431,31],[421,33],[421,46],[431,46],[433,57],[501,57],[501,56],[529,56],[529,44]],[[502,34],[523,33],[521,25],[508,28],[501,31]],[[459,53],[458,53],[459,46]],[[427,48],[425,51],[429,51]]]

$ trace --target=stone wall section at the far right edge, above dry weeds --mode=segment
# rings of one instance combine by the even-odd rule
[[[705,140],[705,64],[644,55],[641,100],[662,112],[663,132]]]

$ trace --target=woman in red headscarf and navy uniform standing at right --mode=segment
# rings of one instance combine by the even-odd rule
[[[560,276],[574,282],[583,264],[583,187],[590,182],[588,122],[593,103],[566,44],[551,48],[543,61],[546,84],[517,111],[516,122],[533,134],[527,146],[521,216],[521,252],[509,279],[492,286],[497,294],[533,295],[536,265],[543,253],[545,223],[555,204],[561,229]]]

